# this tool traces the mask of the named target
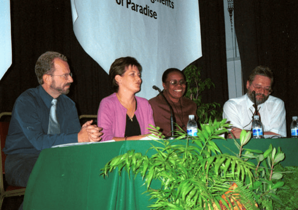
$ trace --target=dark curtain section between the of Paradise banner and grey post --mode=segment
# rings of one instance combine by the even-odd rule
[[[217,102],[221,110],[229,99],[223,0],[199,0],[199,17],[203,55],[192,64],[202,68],[202,80],[215,84],[202,93],[202,102]]]

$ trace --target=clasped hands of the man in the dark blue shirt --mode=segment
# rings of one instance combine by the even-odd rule
[[[98,142],[101,140],[102,128],[92,125],[93,120],[87,121],[78,133],[78,142]]]

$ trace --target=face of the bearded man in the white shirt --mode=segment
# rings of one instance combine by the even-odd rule
[[[251,84],[247,82],[248,98],[254,102],[252,91],[255,91],[256,105],[263,104],[271,94],[271,79],[262,75],[255,75]]]

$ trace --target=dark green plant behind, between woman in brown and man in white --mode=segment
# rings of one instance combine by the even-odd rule
[[[189,65],[186,67],[184,74],[188,84],[185,97],[193,100],[197,104],[198,122],[202,124],[207,123],[210,117],[212,120],[221,120],[222,111],[219,111],[220,104],[216,102],[207,104],[202,103],[201,93],[206,88],[215,88],[215,85],[213,82],[211,82],[211,79],[207,78],[202,81],[200,78],[201,68],[198,69],[195,65]]]

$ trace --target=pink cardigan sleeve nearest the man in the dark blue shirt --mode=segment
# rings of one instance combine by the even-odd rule
[[[99,104],[97,123],[102,128],[101,141],[112,140],[115,136],[113,133],[113,107],[105,99]]]

